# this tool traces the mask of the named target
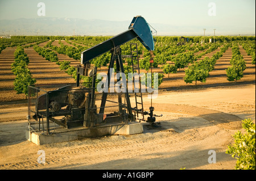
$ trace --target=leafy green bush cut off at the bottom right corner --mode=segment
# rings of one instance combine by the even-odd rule
[[[234,144],[229,145],[226,154],[237,159],[236,170],[255,170],[255,124],[251,119],[242,121],[246,133],[236,132]]]

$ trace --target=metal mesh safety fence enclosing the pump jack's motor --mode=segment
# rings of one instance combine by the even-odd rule
[[[44,134],[128,124],[125,94],[102,93],[74,85],[28,86],[28,125]]]

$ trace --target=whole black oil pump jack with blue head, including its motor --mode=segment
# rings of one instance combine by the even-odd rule
[[[106,102],[113,102],[112,100],[107,100],[107,97],[109,94],[108,91],[110,87],[110,77],[112,74],[111,70],[114,68],[114,63],[116,65],[117,72],[125,73],[120,46],[136,38],[144,45],[147,50],[154,50],[154,40],[150,26],[142,16],[135,16],[131,21],[127,31],[81,52],[81,64],[77,65],[76,87],[64,86],[57,90],[48,92],[47,95],[43,94],[39,96],[38,100],[36,101],[36,113],[33,118],[35,120],[38,118],[40,119],[40,117],[44,116],[45,112],[49,110],[47,116],[48,119],[56,124],[59,124],[61,127],[71,128],[84,126],[92,128],[96,125],[99,125],[100,123],[108,123],[108,120],[123,120],[123,117],[125,117],[125,120],[127,121],[135,121],[136,119],[139,119],[138,115],[141,114],[142,119],[139,119],[140,121],[146,121],[147,123],[150,123],[150,125],[154,125],[155,117],[158,115],[153,113],[154,107],[152,107],[152,100],[151,107],[149,109],[150,111],[144,111],[142,92],[139,94],[135,93],[136,106],[131,107],[127,87],[126,91],[122,93],[125,94],[124,101],[122,100],[122,95],[119,96],[118,94],[119,110],[115,111],[114,113],[105,113]],[[106,78],[105,82],[105,85],[108,87],[108,91],[102,92],[100,107],[98,106],[97,108],[95,103],[97,67],[92,66],[90,64],[90,60],[109,51],[111,53],[111,58],[109,62],[108,77]],[[133,56],[133,51],[131,51],[130,57],[136,59],[139,63],[138,51],[137,56]],[[134,66],[135,65],[133,65],[133,70]],[[137,65],[137,69],[139,70],[139,64]],[[92,77],[91,89],[84,89],[84,87],[80,86],[80,75]],[[139,86],[141,86],[140,79]],[[139,102],[139,100],[141,100],[141,102]],[[139,107],[139,105],[141,107]],[[133,112],[135,112],[134,115]],[[149,115],[149,117],[144,119],[144,115]],[[65,117],[58,120],[55,116]],[[79,124],[74,126],[73,123],[77,121]]]

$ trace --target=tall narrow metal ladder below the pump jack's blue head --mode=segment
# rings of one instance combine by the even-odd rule
[[[135,50],[133,50],[133,47],[135,46]],[[140,74],[139,70],[139,54],[138,54],[138,45],[137,43],[130,43],[130,50],[131,50],[131,66],[133,68],[133,75],[134,70],[137,70],[137,73]],[[135,53],[135,55],[134,55]],[[137,60],[137,65],[134,64],[134,60]],[[143,109],[143,100],[142,100],[142,91],[141,91],[141,77],[139,77],[139,92],[136,92],[135,89],[135,77],[133,76],[133,82],[134,82],[134,94],[135,94],[135,103],[136,107],[133,109],[137,112],[137,118],[139,117],[139,113],[142,114],[142,120],[144,121],[144,109]],[[139,119],[141,122],[141,119]]]

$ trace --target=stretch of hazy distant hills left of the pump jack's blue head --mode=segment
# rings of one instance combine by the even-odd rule
[[[129,22],[68,18],[0,20],[0,33],[11,35],[115,35],[127,30]]]

